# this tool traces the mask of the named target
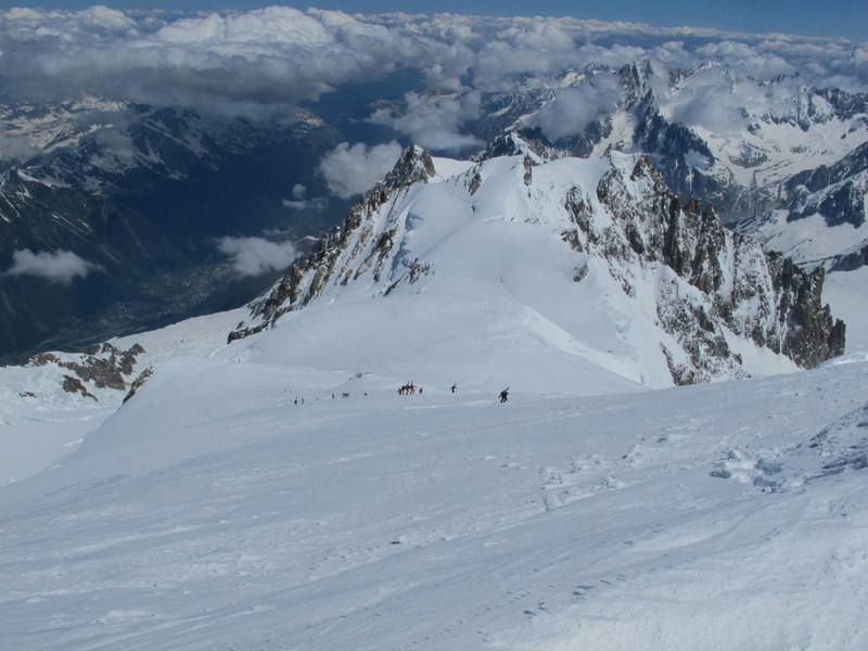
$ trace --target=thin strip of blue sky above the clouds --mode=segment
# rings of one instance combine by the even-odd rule
[[[268,0],[0,0],[0,8],[41,7],[87,9],[105,4],[114,9],[175,9],[248,11],[269,4],[296,9],[317,7],[350,13],[404,11],[407,13],[454,12],[474,15],[570,15],[576,18],[628,21],[663,27],[711,27],[752,34],[777,31],[802,36],[844,37],[868,41],[868,2],[866,0],[490,0],[469,3],[465,0],[321,0],[319,2],[279,2]]]

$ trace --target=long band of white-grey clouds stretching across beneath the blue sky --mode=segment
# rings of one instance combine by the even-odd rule
[[[868,85],[865,43],[571,17],[348,15],[288,7],[199,14],[12,9],[0,11],[0,93],[12,100],[100,98],[252,118],[292,117],[299,103],[342,85],[411,69],[423,82],[404,95],[403,108],[382,108],[370,119],[441,150],[475,143],[465,127],[483,93],[591,64],[617,69],[647,58],[661,69],[711,63],[737,81],[799,73],[807,86],[865,92]],[[695,97],[679,100],[671,114],[718,119],[720,111],[709,104],[726,99],[717,108],[731,119],[739,107],[722,92],[726,82],[698,77]],[[579,128],[612,99],[612,89],[597,82],[585,90],[588,95],[571,91],[552,102],[540,126]],[[569,126],[559,127],[559,119]],[[8,149],[24,151],[22,144]],[[123,156],[124,143],[117,145]]]

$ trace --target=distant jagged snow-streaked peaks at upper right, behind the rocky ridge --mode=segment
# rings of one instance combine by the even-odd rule
[[[778,99],[786,99],[774,106],[745,107],[739,133],[727,133],[728,127],[723,125],[698,130],[674,119],[673,98],[689,94],[697,78],[712,74],[727,79],[730,92],[740,92],[739,87],[751,91],[755,85],[757,92],[774,90]],[[598,77],[617,79],[620,93],[614,104],[601,108],[580,131],[547,138],[538,118],[546,105]],[[489,142],[484,157],[520,153],[510,140],[510,130],[521,133],[526,146],[546,159],[590,157],[610,150],[643,152],[671,190],[699,199],[703,207],[716,206],[720,218],[742,232],[762,226],[770,212],[783,209],[790,221],[818,214],[829,227],[858,227],[865,220],[868,187],[865,176],[856,174],[866,169],[865,93],[810,88],[796,77],[737,79],[726,66],[711,62],[677,69],[641,59],[618,71],[592,64],[552,78],[544,88],[495,93],[485,98],[482,107],[493,116],[483,124],[497,122],[505,129],[500,133],[478,130],[477,136]],[[815,159],[825,165],[817,166]],[[786,225],[781,227],[786,229]],[[820,233],[815,237],[824,238]],[[834,241],[840,242],[840,235],[830,238],[830,243]],[[854,241],[853,250],[839,248],[825,256],[830,258],[827,269],[861,266],[865,256],[856,251],[856,244]]]

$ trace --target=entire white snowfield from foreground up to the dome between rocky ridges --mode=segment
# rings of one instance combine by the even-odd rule
[[[444,177],[399,215],[427,282],[135,337],[124,404],[0,369],[0,648],[867,647],[865,349],[672,387],[602,264],[571,280],[595,259],[488,170],[475,210]]]

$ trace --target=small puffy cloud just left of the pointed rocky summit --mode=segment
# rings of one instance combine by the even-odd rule
[[[322,157],[319,171],[334,196],[349,199],[382,179],[397,163],[400,150],[395,141],[371,148],[361,142],[353,146],[342,142]]]

